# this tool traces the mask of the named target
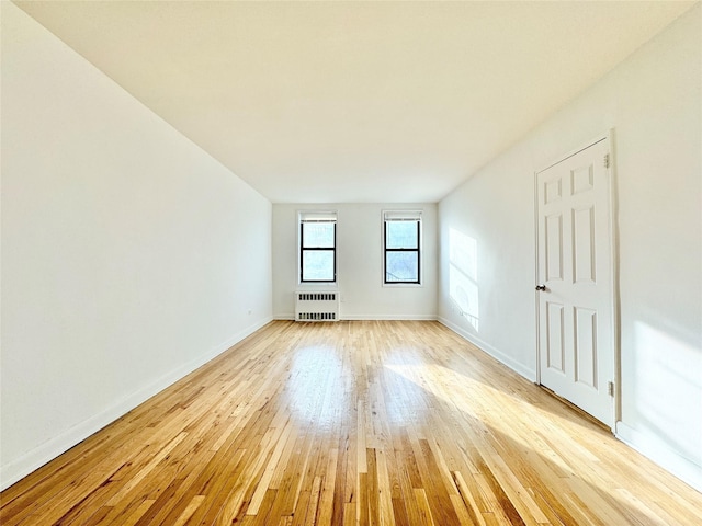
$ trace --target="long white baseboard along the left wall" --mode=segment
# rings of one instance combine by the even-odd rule
[[[246,336],[252,334],[253,332],[270,323],[272,319],[272,317],[267,317],[265,319],[260,320],[252,325],[249,325],[248,328],[237,332],[231,338],[227,339],[227,341],[222,342],[219,345],[216,345],[208,353],[203,354],[192,362],[189,362],[178,367],[177,369],[163,375],[150,385],[122,399],[105,411],[75,425],[73,427],[60,433],[58,436],[52,438],[50,441],[45,442],[44,444],[25,453],[21,457],[11,460],[7,465],[0,467],[0,491],[3,491],[15,482],[22,480],[31,472],[41,468],[59,455],[66,453],[68,449],[84,441],[90,435],[102,430],[105,425],[111,424],[120,416],[123,416],[140,403],[147,401],[152,396],[158,395],[163,389],[172,386],[174,382],[177,382],[181,378],[184,378],[193,370],[202,367],[211,359],[215,358],[236,343],[244,340]]]

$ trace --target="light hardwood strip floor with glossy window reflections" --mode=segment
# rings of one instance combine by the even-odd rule
[[[437,322],[273,322],[0,496],[7,526],[702,524]]]

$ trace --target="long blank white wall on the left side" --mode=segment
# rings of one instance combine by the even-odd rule
[[[272,309],[270,202],[9,2],[1,147],[4,488]]]

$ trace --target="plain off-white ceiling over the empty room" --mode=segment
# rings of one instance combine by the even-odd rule
[[[274,203],[431,203],[694,2],[15,3]]]

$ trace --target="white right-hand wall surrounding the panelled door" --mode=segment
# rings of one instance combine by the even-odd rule
[[[614,128],[622,354],[618,435],[699,489],[701,16],[698,4],[439,207],[441,320],[533,378],[534,172]],[[452,232],[476,254],[477,329],[452,300]]]

